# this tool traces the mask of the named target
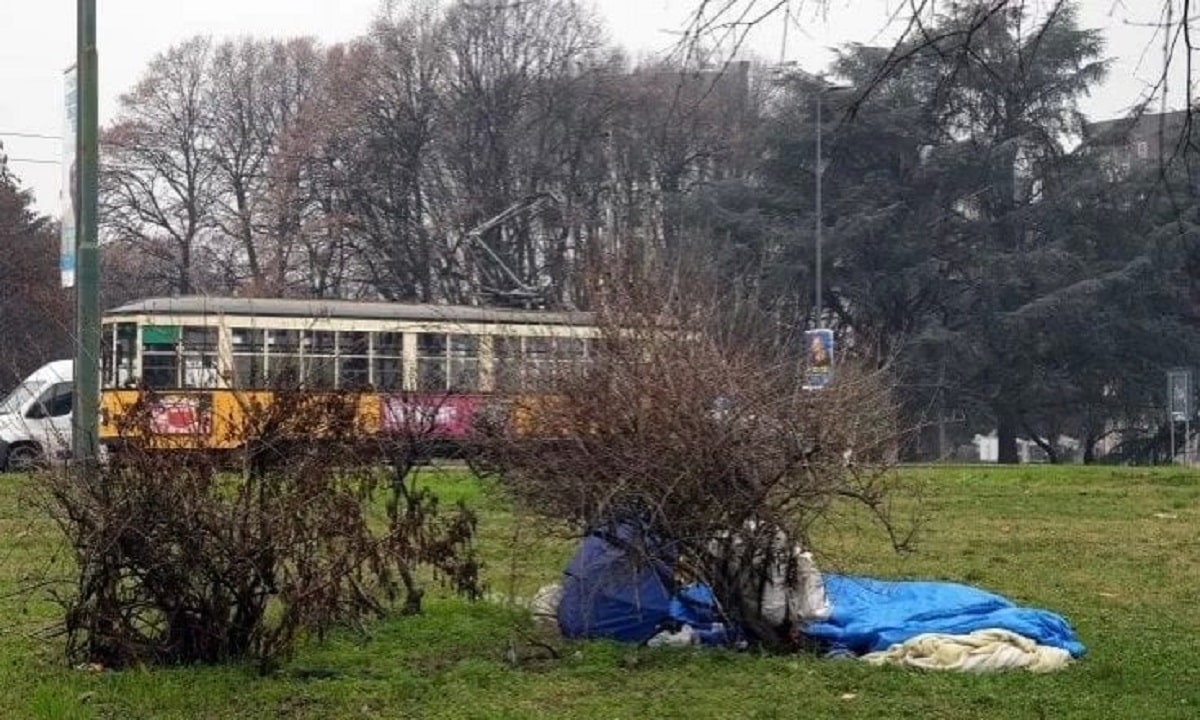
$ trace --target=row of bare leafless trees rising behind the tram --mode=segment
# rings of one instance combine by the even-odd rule
[[[726,170],[744,73],[630,72],[572,0],[385,6],[370,35],[196,38],[106,131],[106,238],[134,287],[479,301],[499,264],[580,305],[588,264],[679,236]],[[532,197],[556,202],[469,230]],[[203,256],[203,262],[198,258]]]

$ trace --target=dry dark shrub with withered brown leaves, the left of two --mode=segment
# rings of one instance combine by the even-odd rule
[[[418,612],[422,566],[479,594],[475,516],[439,511],[408,467],[362,467],[358,397],[274,397],[247,408],[241,473],[210,454],[126,448],[88,476],[50,478],[49,509],[78,566],[62,598],[72,660],[269,668],[301,637],[397,600]],[[131,445],[146,437],[152,403],[131,413]],[[385,518],[379,492],[390,493]]]

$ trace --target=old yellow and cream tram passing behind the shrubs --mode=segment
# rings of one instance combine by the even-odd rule
[[[529,392],[593,352],[586,312],[346,300],[181,296],[130,302],[102,319],[101,442],[149,410],[148,448],[233,449],[248,407],[281,389],[350,394],[367,433],[414,406],[434,431],[469,431],[488,398]],[[318,432],[318,431],[313,431]]]

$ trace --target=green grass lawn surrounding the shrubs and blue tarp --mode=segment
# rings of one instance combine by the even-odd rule
[[[415,618],[307,643],[283,671],[68,668],[43,578],[70,571],[55,533],[0,475],[0,718],[1055,718],[1200,716],[1200,474],[1081,467],[906,469],[928,514],[893,553],[857,516],[821,530],[827,569],[980,586],[1064,614],[1088,647],[1069,670],[994,676],[852,660],[560,642],[505,660],[521,613],[433,598]],[[493,595],[557,580],[570,553],[461,474],[482,508]],[[836,529],[836,532],[835,532]],[[514,552],[515,547],[515,552]]]

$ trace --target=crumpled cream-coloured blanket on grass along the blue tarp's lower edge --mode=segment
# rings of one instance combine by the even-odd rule
[[[1070,653],[1008,630],[990,628],[967,635],[925,632],[886,650],[868,653],[862,660],[874,665],[905,665],[923,670],[997,672],[1025,668],[1054,672],[1070,664]]]

